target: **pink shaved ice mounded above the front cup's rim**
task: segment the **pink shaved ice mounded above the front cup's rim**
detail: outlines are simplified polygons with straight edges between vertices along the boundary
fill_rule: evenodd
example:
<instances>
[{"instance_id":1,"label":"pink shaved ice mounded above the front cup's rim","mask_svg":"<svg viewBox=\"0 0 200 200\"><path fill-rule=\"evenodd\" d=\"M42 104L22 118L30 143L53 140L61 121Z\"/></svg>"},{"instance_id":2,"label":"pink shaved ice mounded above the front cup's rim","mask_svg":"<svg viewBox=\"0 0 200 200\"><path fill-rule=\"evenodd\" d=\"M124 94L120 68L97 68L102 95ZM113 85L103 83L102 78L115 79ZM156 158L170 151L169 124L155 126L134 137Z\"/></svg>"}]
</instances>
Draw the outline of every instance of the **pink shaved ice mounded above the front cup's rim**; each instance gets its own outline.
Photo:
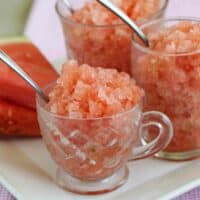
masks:
<instances>
[{"instance_id":1,"label":"pink shaved ice mounded above the front cup's rim","mask_svg":"<svg viewBox=\"0 0 200 200\"><path fill-rule=\"evenodd\" d=\"M115 69L93 68L71 60L49 94L51 112L70 118L97 118L133 108L144 95L135 80Z\"/></svg>"}]
</instances>

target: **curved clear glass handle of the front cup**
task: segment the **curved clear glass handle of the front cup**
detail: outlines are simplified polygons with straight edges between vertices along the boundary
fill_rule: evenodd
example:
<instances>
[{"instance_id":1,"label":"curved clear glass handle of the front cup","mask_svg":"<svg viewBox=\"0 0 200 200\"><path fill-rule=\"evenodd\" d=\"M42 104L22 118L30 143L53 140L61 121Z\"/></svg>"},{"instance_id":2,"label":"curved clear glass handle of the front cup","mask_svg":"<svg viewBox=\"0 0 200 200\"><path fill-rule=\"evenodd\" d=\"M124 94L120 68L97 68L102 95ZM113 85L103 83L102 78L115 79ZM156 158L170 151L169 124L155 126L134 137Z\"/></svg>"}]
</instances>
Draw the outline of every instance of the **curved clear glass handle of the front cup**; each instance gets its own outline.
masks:
<instances>
[{"instance_id":1,"label":"curved clear glass handle of the front cup","mask_svg":"<svg viewBox=\"0 0 200 200\"><path fill-rule=\"evenodd\" d=\"M158 134L153 140L151 139L152 133L149 133L150 127L158 129ZM158 153L167 147L172 137L173 125L164 113L158 111L143 113L139 129L139 138L142 146L132 149L129 161L143 159Z\"/></svg>"}]
</instances>

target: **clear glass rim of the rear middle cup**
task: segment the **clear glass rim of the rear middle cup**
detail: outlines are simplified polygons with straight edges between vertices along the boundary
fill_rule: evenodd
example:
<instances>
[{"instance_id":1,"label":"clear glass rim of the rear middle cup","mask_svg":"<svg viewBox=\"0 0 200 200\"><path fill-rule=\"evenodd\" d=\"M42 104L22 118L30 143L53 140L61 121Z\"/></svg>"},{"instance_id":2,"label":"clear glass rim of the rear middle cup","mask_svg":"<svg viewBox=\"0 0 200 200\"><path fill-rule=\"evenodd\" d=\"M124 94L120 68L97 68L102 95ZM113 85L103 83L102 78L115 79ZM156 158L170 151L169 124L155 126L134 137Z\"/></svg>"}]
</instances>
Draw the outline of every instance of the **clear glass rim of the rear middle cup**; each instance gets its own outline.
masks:
<instances>
[{"instance_id":1,"label":"clear glass rim of the rear middle cup","mask_svg":"<svg viewBox=\"0 0 200 200\"><path fill-rule=\"evenodd\" d=\"M111 25L106 25L106 24L105 24L105 25L95 25L95 24L92 24L92 25L91 25L91 24L82 24L82 23L78 23L78 22L72 20L72 19L69 18L69 17L63 16L63 15L60 13L60 11L59 11L59 5L58 5L58 4L59 4L61 1L63 1L63 0L57 0L57 2L56 2L56 4L55 4L55 10L56 10L57 14L59 15L59 17L60 17L63 21L68 22L68 23L70 23L70 24L75 24L76 26L80 26L80 27L99 28L99 29L100 29L100 28L117 28L117 27L121 27L121 26L127 26L126 24L123 24L123 23L121 23L121 24L111 24ZM164 13L165 10L166 10L167 7L168 7L169 0L163 0L163 1L164 1L164 3L163 3L163 5L162 5L162 7L161 7L155 14L151 15L151 16L148 17L148 18L144 18L144 19L150 21L150 20L153 20L153 19L157 18L157 17L160 16L162 13ZM66 9L67 9L67 7L66 7Z\"/></svg>"}]
</instances>

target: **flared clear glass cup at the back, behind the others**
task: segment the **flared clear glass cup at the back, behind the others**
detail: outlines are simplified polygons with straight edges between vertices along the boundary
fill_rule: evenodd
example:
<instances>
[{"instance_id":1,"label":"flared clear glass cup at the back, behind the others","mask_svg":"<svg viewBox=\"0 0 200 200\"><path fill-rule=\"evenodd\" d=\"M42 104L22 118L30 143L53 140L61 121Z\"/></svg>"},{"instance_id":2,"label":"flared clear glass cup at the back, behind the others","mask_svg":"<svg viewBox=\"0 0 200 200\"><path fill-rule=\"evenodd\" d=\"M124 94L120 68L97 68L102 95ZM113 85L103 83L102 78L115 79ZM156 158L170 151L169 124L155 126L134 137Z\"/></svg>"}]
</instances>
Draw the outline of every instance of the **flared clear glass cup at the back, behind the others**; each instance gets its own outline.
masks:
<instances>
[{"instance_id":1,"label":"flared clear glass cup at the back, behind the others","mask_svg":"<svg viewBox=\"0 0 200 200\"><path fill-rule=\"evenodd\" d=\"M158 0L160 7L147 19L138 18L137 23L157 19L164 15L168 0ZM73 1L71 1L73 3ZM87 0L80 0L83 6ZM74 6L75 9L78 9ZM67 55L80 64L116 68L130 73L132 31L125 24L87 25L70 18L70 11L64 0L58 0L57 13L61 19Z\"/></svg>"}]
</instances>

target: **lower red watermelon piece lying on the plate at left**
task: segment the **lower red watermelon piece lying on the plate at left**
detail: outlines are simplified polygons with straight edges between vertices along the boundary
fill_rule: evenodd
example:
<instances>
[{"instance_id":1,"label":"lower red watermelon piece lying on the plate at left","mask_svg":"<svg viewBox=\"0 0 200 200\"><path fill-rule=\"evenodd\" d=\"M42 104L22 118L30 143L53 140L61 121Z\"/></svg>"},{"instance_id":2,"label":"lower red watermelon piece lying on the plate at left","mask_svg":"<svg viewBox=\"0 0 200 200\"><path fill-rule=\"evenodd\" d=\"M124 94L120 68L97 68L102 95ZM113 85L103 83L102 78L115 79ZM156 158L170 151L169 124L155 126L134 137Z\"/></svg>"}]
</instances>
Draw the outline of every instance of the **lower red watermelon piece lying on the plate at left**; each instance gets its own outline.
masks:
<instances>
[{"instance_id":1,"label":"lower red watermelon piece lying on the plate at left","mask_svg":"<svg viewBox=\"0 0 200 200\"><path fill-rule=\"evenodd\" d=\"M0 99L0 136L40 136L36 111Z\"/></svg>"}]
</instances>

